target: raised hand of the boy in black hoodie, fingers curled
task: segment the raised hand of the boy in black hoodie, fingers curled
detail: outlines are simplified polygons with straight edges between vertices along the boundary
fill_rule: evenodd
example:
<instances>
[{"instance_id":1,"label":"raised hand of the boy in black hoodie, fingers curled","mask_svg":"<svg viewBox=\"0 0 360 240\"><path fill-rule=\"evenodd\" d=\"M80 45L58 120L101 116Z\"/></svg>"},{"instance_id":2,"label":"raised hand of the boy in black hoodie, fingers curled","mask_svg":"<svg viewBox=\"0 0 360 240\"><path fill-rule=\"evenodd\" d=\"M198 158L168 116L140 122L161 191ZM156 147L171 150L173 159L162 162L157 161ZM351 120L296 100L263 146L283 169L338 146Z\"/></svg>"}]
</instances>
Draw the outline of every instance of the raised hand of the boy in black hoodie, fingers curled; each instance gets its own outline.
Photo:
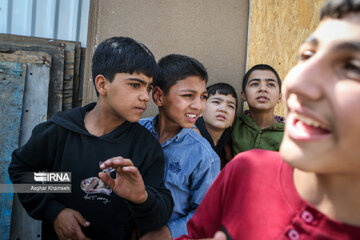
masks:
<instances>
[{"instance_id":1,"label":"raised hand of the boy in black hoodie, fingers curled","mask_svg":"<svg viewBox=\"0 0 360 240\"><path fill-rule=\"evenodd\" d=\"M142 204L148 198L143 178L130 159L114 157L100 165L101 169L112 167L116 171L113 179L108 173L99 172L99 178L107 184L118 196L135 204Z\"/></svg>"}]
</instances>

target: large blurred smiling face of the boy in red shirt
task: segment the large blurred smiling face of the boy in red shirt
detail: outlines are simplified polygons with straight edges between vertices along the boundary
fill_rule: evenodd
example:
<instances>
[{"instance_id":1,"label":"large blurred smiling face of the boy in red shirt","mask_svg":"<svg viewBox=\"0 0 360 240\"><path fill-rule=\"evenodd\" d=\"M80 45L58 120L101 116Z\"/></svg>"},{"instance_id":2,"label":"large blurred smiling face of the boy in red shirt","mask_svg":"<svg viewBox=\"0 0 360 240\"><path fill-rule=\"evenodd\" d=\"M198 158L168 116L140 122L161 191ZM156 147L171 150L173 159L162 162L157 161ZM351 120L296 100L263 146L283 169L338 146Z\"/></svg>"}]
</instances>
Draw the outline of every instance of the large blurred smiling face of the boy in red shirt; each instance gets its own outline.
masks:
<instances>
[{"instance_id":1,"label":"large blurred smiling face of the boy in red shirt","mask_svg":"<svg viewBox=\"0 0 360 240\"><path fill-rule=\"evenodd\" d=\"M283 85L281 156L317 173L360 171L360 15L324 19Z\"/></svg>"}]
</instances>

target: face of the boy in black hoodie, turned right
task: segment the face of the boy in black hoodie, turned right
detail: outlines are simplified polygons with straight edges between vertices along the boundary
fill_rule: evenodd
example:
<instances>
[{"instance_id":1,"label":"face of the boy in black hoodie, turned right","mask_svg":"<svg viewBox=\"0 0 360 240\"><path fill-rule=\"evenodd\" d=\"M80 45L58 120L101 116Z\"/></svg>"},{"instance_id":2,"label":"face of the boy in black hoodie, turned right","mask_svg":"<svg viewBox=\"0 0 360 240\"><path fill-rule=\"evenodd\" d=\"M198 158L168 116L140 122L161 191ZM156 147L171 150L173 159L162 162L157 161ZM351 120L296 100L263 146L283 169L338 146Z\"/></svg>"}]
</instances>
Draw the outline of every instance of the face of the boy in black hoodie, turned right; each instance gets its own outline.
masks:
<instances>
[{"instance_id":1,"label":"face of the boy in black hoodie, turned right","mask_svg":"<svg viewBox=\"0 0 360 240\"><path fill-rule=\"evenodd\" d=\"M97 90L109 117L115 117L122 122L139 121L149 103L152 78L137 73L117 73L112 82L102 75L96 78L95 81L103 82Z\"/></svg>"}]
</instances>

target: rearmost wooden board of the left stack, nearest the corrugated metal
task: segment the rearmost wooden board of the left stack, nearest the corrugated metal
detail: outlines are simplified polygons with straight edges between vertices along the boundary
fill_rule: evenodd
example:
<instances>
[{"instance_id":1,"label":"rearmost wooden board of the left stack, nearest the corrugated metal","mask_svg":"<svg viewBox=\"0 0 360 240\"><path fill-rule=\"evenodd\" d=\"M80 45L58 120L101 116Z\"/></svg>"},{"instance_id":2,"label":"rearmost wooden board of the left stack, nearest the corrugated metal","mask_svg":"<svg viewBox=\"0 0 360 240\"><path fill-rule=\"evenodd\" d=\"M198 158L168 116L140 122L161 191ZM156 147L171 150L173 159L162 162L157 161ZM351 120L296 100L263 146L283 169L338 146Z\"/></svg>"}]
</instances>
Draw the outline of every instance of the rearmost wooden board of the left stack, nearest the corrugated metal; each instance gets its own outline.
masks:
<instances>
[{"instance_id":1,"label":"rearmost wooden board of the left stack, nearest the corrugated metal","mask_svg":"<svg viewBox=\"0 0 360 240\"><path fill-rule=\"evenodd\" d=\"M62 110L71 109L73 106L74 95L74 81L78 82L75 78L75 74L78 73L78 63L76 59L79 59L79 54L76 49L81 47L80 42L57 40L51 38L38 38L29 36L20 36L12 34L0 34L0 40L22 42L27 44L46 44L52 46L61 46L65 50L64 59L64 82L63 82L63 98L62 98ZM78 49L79 50L79 49Z\"/></svg>"}]
</instances>

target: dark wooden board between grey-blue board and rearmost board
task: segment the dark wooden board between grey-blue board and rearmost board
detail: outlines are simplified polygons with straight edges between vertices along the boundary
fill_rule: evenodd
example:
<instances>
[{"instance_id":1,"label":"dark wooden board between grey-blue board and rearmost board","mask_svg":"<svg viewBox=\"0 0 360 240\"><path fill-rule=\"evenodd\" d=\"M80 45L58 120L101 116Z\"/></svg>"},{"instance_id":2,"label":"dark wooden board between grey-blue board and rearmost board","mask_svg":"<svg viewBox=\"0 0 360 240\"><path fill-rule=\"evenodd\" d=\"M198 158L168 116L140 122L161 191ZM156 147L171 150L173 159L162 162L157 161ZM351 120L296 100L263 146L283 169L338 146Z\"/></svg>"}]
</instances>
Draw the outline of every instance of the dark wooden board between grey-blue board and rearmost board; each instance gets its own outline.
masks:
<instances>
[{"instance_id":1,"label":"dark wooden board between grey-blue board and rearmost board","mask_svg":"<svg viewBox=\"0 0 360 240\"><path fill-rule=\"evenodd\" d=\"M42 44L24 44L0 40L0 52L11 53L15 51L43 51L52 57L51 76L48 100L48 118L62 110L63 75L64 75L64 46L51 46Z\"/></svg>"}]
</instances>

